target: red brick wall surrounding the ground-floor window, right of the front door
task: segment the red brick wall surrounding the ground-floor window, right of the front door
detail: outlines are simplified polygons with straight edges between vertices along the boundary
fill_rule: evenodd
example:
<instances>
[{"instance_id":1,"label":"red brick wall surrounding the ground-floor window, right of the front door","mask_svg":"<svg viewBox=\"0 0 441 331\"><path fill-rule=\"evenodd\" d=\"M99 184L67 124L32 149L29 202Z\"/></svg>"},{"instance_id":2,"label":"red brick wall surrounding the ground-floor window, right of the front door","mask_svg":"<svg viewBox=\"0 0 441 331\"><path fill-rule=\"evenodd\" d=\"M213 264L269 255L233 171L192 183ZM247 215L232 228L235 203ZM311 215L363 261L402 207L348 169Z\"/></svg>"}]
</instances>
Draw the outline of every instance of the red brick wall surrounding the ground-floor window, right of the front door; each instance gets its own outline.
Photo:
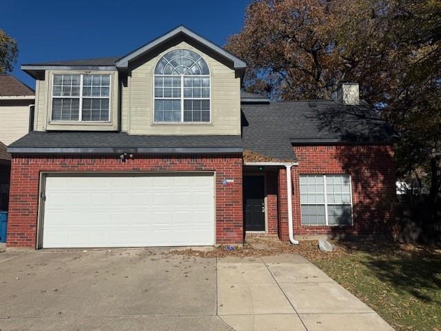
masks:
<instances>
[{"instance_id":1,"label":"red brick wall surrounding the ground-floor window, right of the front door","mask_svg":"<svg viewBox=\"0 0 441 331\"><path fill-rule=\"evenodd\" d=\"M298 166L292 168L294 235L308 237L389 236L391 199L395 194L392 146L295 146ZM286 180L280 170L279 185ZM303 226L300 221L300 174L350 174L353 202L351 226ZM286 189L286 184L284 186ZM279 190L283 191L283 188ZM283 194L283 192L282 192ZM280 206L283 215L286 206ZM289 240L287 218L279 217L280 238ZM285 225L286 222L286 225Z\"/></svg>"}]
</instances>

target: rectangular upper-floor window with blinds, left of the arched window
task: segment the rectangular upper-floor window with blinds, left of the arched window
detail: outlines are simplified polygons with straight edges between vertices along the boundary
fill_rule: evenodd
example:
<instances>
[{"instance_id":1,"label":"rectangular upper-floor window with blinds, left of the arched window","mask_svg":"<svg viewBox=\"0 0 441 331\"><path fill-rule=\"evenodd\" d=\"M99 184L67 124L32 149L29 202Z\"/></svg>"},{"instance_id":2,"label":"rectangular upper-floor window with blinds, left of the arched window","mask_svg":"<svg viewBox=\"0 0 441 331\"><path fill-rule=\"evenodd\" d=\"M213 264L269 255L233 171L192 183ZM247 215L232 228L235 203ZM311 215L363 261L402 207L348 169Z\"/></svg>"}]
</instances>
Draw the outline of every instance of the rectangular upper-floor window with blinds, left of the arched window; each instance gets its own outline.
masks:
<instances>
[{"instance_id":1,"label":"rectangular upper-floor window with blinds, left of the arched window","mask_svg":"<svg viewBox=\"0 0 441 331\"><path fill-rule=\"evenodd\" d=\"M52 121L110 121L110 74L54 74Z\"/></svg>"}]
</instances>

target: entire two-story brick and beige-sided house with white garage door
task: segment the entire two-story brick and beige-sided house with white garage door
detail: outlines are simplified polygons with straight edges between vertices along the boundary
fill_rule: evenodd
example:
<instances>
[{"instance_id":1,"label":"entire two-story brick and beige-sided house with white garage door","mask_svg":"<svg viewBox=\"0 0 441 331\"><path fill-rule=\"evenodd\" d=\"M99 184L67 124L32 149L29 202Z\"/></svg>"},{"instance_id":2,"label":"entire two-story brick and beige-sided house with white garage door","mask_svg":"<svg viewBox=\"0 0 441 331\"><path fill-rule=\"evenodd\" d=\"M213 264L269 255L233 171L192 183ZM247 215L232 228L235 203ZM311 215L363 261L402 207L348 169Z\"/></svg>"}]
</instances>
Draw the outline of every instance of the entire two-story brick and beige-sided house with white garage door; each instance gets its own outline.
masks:
<instances>
[{"instance_id":1,"label":"entire two-story brick and beige-sided house with white garage door","mask_svg":"<svg viewBox=\"0 0 441 331\"><path fill-rule=\"evenodd\" d=\"M180 26L123 57L34 63L12 154L8 247L387 235L393 135L336 101L241 93L246 63Z\"/></svg>"}]
</instances>

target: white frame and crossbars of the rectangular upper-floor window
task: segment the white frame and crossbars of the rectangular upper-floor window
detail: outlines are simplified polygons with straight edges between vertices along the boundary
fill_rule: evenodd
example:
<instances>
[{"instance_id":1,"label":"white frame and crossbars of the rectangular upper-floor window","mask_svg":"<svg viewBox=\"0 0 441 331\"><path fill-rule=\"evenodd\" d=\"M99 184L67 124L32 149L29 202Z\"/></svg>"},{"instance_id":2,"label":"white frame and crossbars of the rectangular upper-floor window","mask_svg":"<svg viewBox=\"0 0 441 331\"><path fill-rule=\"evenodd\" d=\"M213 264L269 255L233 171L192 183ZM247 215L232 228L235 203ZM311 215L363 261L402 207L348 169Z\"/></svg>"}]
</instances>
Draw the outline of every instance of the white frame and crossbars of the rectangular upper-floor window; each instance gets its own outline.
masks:
<instances>
[{"instance_id":1,"label":"white frame and crossbars of the rectangular upper-floor window","mask_svg":"<svg viewBox=\"0 0 441 331\"><path fill-rule=\"evenodd\" d=\"M75 74L80 75L80 94L78 97L63 97L59 95L54 95L54 77L55 75L68 75L71 74L72 76ZM109 117L105 121L83 121L83 98L85 99L105 99L106 97L83 97L83 79L85 75L102 75L102 76L109 76ZM50 123L110 123L111 122L111 114L112 114L112 74L107 73L80 73L80 72L55 72L52 74L52 84L51 84L51 92L50 92ZM79 114L78 114L78 121L75 120L54 120L52 119L52 112L53 112L53 99L80 99L79 100Z\"/></svg>"}]
</instances>

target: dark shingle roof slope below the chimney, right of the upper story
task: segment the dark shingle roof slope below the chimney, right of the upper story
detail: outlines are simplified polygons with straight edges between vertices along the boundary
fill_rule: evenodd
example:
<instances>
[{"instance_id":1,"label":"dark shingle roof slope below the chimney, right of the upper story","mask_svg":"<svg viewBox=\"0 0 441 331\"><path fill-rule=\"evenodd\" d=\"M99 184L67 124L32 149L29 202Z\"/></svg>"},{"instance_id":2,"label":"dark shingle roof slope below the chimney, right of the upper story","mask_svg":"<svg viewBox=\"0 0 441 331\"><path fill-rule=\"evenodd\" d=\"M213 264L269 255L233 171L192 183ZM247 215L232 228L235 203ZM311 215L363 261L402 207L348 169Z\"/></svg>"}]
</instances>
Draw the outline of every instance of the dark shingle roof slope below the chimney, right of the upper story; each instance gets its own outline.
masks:
<instances>
[{"instance_id":1,"label":"dark shingle roof slope below the chimney, right of the upper story","mask_svg":"<svg viewBox=\"0 0 441 331\"><path fill-rule=\"evenodd\" d=\"M243 104L243 148L265 157L295 161L293 144L391 143L389 124L367 103L333 100Z\"/></svg>"}]
</instances>

